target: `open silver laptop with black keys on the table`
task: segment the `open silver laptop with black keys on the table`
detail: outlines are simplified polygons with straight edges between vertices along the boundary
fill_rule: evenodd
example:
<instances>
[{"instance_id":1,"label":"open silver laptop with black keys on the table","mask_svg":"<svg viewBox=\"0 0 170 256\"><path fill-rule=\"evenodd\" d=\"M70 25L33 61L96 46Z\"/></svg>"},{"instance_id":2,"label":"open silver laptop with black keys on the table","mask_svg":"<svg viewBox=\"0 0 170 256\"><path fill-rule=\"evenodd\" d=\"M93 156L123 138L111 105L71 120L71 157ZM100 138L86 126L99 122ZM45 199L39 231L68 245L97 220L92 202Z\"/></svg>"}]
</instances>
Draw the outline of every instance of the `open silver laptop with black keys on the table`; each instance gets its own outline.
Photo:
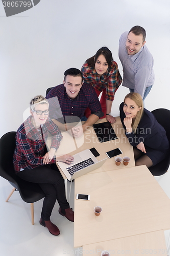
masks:
<instances>
[{"instance_id":1,"label":"open silver laptop with black keys on the table","mask_svg":"<svg viewBox=\"0 0 170 256\"><path fill-rule=\"evenodd\" d=\"M64 162L57 162L67 179L74 180L84 174L100 168L108 158L98 161L90 150L84 150L73 156L74 162L70 165Z\"/></svg>"}]
</instances>

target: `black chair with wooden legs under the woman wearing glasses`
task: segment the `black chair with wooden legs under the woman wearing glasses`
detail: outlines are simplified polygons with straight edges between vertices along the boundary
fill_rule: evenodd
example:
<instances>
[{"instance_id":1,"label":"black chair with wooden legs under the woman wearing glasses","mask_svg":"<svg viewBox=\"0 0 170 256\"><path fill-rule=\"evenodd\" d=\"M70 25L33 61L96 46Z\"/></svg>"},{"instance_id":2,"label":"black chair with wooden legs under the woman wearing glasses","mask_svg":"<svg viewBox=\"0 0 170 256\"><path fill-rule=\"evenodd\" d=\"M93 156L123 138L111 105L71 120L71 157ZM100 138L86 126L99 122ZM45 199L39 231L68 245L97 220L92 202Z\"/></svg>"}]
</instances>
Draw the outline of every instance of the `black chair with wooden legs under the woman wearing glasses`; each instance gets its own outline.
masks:
<instances>
[{"instance_id":1,"label":"black chair with wooden legs under the woman wearing glasses","mask_svg":"<svg viewBox=\"0 0 170 256\"><path fill-rule=\"evenodd\" d=\"M15 135L16 132L9 132L3 135L3 137L0 139L0 176L8 180L14 187L6 202L8 202L13 192L18 190L22 200L26 203L31 203L31 217L32 224L34 225L33 203L42 199L45 194L37 183L22 180L15 175L15 170L13 167Z\"/></svg>"}]
</instances>

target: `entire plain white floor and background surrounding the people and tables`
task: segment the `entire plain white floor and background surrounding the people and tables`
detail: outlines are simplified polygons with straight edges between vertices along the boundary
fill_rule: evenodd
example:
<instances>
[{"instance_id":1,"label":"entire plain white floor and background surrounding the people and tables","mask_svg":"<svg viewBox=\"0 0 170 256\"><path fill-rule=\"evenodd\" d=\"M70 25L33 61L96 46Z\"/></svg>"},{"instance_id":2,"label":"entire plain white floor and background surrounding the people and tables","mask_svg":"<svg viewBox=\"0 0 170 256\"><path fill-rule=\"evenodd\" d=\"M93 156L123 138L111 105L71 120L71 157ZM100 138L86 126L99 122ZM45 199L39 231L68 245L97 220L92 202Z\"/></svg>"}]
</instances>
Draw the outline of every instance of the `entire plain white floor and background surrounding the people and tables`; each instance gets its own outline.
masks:
<instances>
[{"instance_id":1,"label":"entire plain white floor and background surrounding the people and tables","mask_svg":"<svg viewBox=\"0 0 170 256\"><path fill-rule=\"evenodd\" d=\"M23 13L28 17L21 19L20 14L6 18L1 4L0 66L4 88L1 110L5 108L1 113L4 120L1 135L16 131L22 111L28 108L27 103L33 96L43 95L48 87L60 84L67 68L81 68L103 45L111 49L123 74L118 59L118 39L135 25L147 30L147 47L154 56L156 79L145 100L145 108L169 109L169 9L168 0L42 0ZM122 86L117 90L112 108L114 116L119 114L119 104L128 92ZM15 111L12 111L14 99ZM170 169L155 179L170 198ZM74 183L72 185L70 206L74 208ZM74 223L59 215L58 204L51 217L61 231L55 237L39 224L42 200L34 204L33 226L30 204L21 200L18 191L5 202L11 189L11 184L0 177L0 256L77 256ZM166 243L168 236L169 230L165 231Z\"/></svg>"}]
</instances>

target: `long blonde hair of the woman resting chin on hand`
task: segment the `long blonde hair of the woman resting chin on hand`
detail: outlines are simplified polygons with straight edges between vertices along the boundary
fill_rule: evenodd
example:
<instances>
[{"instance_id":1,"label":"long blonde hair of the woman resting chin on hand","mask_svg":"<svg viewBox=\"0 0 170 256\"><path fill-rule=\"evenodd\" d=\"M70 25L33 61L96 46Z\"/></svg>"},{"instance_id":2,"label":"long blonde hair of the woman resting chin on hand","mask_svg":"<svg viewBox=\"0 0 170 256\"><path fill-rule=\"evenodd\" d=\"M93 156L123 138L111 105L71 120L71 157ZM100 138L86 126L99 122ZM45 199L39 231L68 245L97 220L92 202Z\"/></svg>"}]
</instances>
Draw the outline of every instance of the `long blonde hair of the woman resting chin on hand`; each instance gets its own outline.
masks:
<instances>
[{"instance_id":1,"label":"long blonde hair of the woman resting chin on hand","mask_svg":"<svg viewBox=\"0 0 170 256\"><path fill-rule=\"evenodd\" d=\"M124 103L125 103L125 100L126 98L130 98L132 99L137 105L139 108L141 108L138 112L137 112L137 115L136 117L133 119L132 121L132 131L134 133L136 133L136 130L137 130L137 126L141 120L141 117L143 115L143 100L142 100L142 97L140 96L139 93L128 93L126 96L125 96L125 99L124 99Z\"/></svg>"}]
</instances>

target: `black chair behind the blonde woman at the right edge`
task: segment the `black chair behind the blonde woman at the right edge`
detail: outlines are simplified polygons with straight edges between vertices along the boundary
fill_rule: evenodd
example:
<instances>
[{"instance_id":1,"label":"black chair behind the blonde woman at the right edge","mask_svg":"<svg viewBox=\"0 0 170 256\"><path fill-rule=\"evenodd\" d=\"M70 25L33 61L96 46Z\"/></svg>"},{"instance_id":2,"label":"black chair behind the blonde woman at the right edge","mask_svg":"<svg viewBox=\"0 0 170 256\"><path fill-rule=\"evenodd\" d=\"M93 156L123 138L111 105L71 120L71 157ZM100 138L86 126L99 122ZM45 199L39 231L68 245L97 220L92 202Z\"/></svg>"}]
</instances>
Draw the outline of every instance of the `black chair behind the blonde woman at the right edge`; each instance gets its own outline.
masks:
<instances>
[{"instance_id":1,"label":"black chair behind the blonde woman at the right edge","mask_svg":"<svg viewBox=\"0 0 170 256\"><path fill-rule=\"evenodd\" d=\"M160 123L164 127L166 131L166 136L170 145L170 122L169 122L170 110L157 109L157 110L153 110L152 113L156 117L156 120L158 121L158 123ZM170 164L170 151L169 151L169 155L163 161L161 161L160 163L154 166L151 166L149 170L154 176L160 176L167 172L169 164Z\"/></svg>"}]
</instances>

